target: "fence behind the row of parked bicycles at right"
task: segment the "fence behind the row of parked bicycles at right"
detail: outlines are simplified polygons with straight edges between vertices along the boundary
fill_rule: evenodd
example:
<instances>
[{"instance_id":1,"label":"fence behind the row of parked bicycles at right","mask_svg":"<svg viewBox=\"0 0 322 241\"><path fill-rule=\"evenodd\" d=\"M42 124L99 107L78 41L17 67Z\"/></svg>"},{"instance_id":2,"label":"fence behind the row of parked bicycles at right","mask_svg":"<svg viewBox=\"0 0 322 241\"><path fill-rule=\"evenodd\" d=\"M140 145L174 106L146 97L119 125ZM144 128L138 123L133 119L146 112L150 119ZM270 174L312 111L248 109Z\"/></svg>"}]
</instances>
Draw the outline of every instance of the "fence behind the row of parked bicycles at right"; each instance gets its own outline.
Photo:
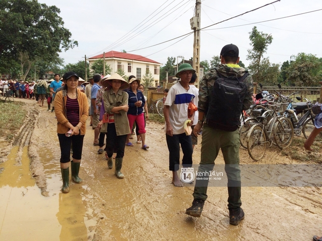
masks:
<instances>
[{"instance_id":1,"label":"fence behind the row of parked bicycles at right","mask_svg":"<svg viewBox=\"0 0 322 241\"><path fill-rule=\"evenodd\" d=\"M320 81L321 87L287 87L282 86L281 89L278 86L263 86L263 88L259 87L256 82L254 82L254 94L259 93L261 90L267 90L271 94L275 94L277 92L282 92L283 95L290 95L294 92L300 92L295 96L300 96L302 100L307 98L313 102L322 100L322 81ZM297 101L295 99L295 101Z\"/></svg>"}]
</instances>

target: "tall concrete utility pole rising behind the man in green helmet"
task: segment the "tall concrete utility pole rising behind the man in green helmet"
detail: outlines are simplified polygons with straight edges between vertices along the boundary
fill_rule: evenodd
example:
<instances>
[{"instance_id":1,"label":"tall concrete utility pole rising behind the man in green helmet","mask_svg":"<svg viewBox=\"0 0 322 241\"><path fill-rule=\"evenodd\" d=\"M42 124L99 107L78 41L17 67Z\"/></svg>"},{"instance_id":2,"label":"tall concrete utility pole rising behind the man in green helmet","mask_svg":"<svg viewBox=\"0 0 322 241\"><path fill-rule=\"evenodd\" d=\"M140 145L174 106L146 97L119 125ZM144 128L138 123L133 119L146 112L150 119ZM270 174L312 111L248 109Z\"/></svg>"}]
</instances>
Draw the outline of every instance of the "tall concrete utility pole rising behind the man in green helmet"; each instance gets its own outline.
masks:
<instances>
[{"instance_id":1,"label":"tall concrete utility pole rising behind the man in green helmet","mask_svg":"<svg viewBox=\"0 0 322 241\"><path fill-rule=\"evenodd\" d=\"M193 41L193 60L192 68L196 70L197 80L196 85L199 87L200 77L200 22L201 22L201 0L196 0L196 12L195 16L190 19L191 29L194 30Z\"/></svg>"}]
</instances>

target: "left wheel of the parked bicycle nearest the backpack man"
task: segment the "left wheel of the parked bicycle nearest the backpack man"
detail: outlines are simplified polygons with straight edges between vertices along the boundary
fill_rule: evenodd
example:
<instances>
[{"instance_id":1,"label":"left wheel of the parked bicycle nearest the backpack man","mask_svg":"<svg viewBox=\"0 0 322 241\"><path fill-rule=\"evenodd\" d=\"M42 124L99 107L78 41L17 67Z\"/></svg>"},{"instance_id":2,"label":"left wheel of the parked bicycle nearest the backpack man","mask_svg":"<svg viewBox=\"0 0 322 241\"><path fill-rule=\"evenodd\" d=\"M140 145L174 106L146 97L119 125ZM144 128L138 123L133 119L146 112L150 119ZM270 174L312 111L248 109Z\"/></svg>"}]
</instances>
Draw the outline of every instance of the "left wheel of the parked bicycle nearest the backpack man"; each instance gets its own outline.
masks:
<instances>
[{"instance_id":1,"label":"left wheel of the parked bicycle nearest the backpack man","mask_svg":"<svg viewBox=\"0 0 322 241\"><path fill-rule=\"evenodd\" d=\"M267 143L267 137L262 125L253 125L247 134L247 151L251 159L254 161L262 160L266 152Z\"/></svg>"}]
</instances>

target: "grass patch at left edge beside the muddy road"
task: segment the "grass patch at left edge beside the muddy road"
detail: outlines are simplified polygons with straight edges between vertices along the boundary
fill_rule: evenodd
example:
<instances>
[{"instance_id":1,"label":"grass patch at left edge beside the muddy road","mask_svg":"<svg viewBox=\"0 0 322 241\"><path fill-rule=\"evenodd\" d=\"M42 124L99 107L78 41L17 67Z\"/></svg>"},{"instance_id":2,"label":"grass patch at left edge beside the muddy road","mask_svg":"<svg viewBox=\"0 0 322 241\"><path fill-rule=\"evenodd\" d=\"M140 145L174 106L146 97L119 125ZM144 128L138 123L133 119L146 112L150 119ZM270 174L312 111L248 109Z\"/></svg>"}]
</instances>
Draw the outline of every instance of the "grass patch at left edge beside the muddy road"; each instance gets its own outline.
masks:
<instances>
[{"instance_id":1,"label":"grass patch at left edge beside the muddy road","mask_svg":"<svg viewBox=\"0 0 322 241\"><path fill-rule=\"evenodd\" d=\"M26 117L27 110L24 102L15 101L0 102L0 136L10 141L16 131L21 127L22 121Z\"/></svg>"}]
</instances>

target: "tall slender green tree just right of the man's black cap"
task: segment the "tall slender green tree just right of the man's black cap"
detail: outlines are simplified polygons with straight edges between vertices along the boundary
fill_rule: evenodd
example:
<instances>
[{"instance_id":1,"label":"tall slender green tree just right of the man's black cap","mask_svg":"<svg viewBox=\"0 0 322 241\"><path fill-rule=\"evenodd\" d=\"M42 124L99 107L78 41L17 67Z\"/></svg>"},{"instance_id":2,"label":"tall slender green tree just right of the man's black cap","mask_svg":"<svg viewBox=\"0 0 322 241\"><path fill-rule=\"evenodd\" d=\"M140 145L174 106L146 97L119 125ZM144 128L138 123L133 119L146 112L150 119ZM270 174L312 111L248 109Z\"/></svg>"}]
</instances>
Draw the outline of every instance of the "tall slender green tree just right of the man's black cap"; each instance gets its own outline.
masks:
<instances>
[{"instance_id":1,"label":"tall slender green tree just right of the man's black cap","mask_svg":"<svg viewBox=\"0 0 322 241\"><path fill-rule=\"evenodd\" d=\"M252 74L253 80L259 83L261 82L264 85L277 83L279 65L270 64L269 58L264 58L264 54L268 49L268 45L272 42L273 37L270 34L259 32L256 26L249 34L252 49L248 49L247 60L250 60L248 70Z\"/></svg>"}]
</instances>

